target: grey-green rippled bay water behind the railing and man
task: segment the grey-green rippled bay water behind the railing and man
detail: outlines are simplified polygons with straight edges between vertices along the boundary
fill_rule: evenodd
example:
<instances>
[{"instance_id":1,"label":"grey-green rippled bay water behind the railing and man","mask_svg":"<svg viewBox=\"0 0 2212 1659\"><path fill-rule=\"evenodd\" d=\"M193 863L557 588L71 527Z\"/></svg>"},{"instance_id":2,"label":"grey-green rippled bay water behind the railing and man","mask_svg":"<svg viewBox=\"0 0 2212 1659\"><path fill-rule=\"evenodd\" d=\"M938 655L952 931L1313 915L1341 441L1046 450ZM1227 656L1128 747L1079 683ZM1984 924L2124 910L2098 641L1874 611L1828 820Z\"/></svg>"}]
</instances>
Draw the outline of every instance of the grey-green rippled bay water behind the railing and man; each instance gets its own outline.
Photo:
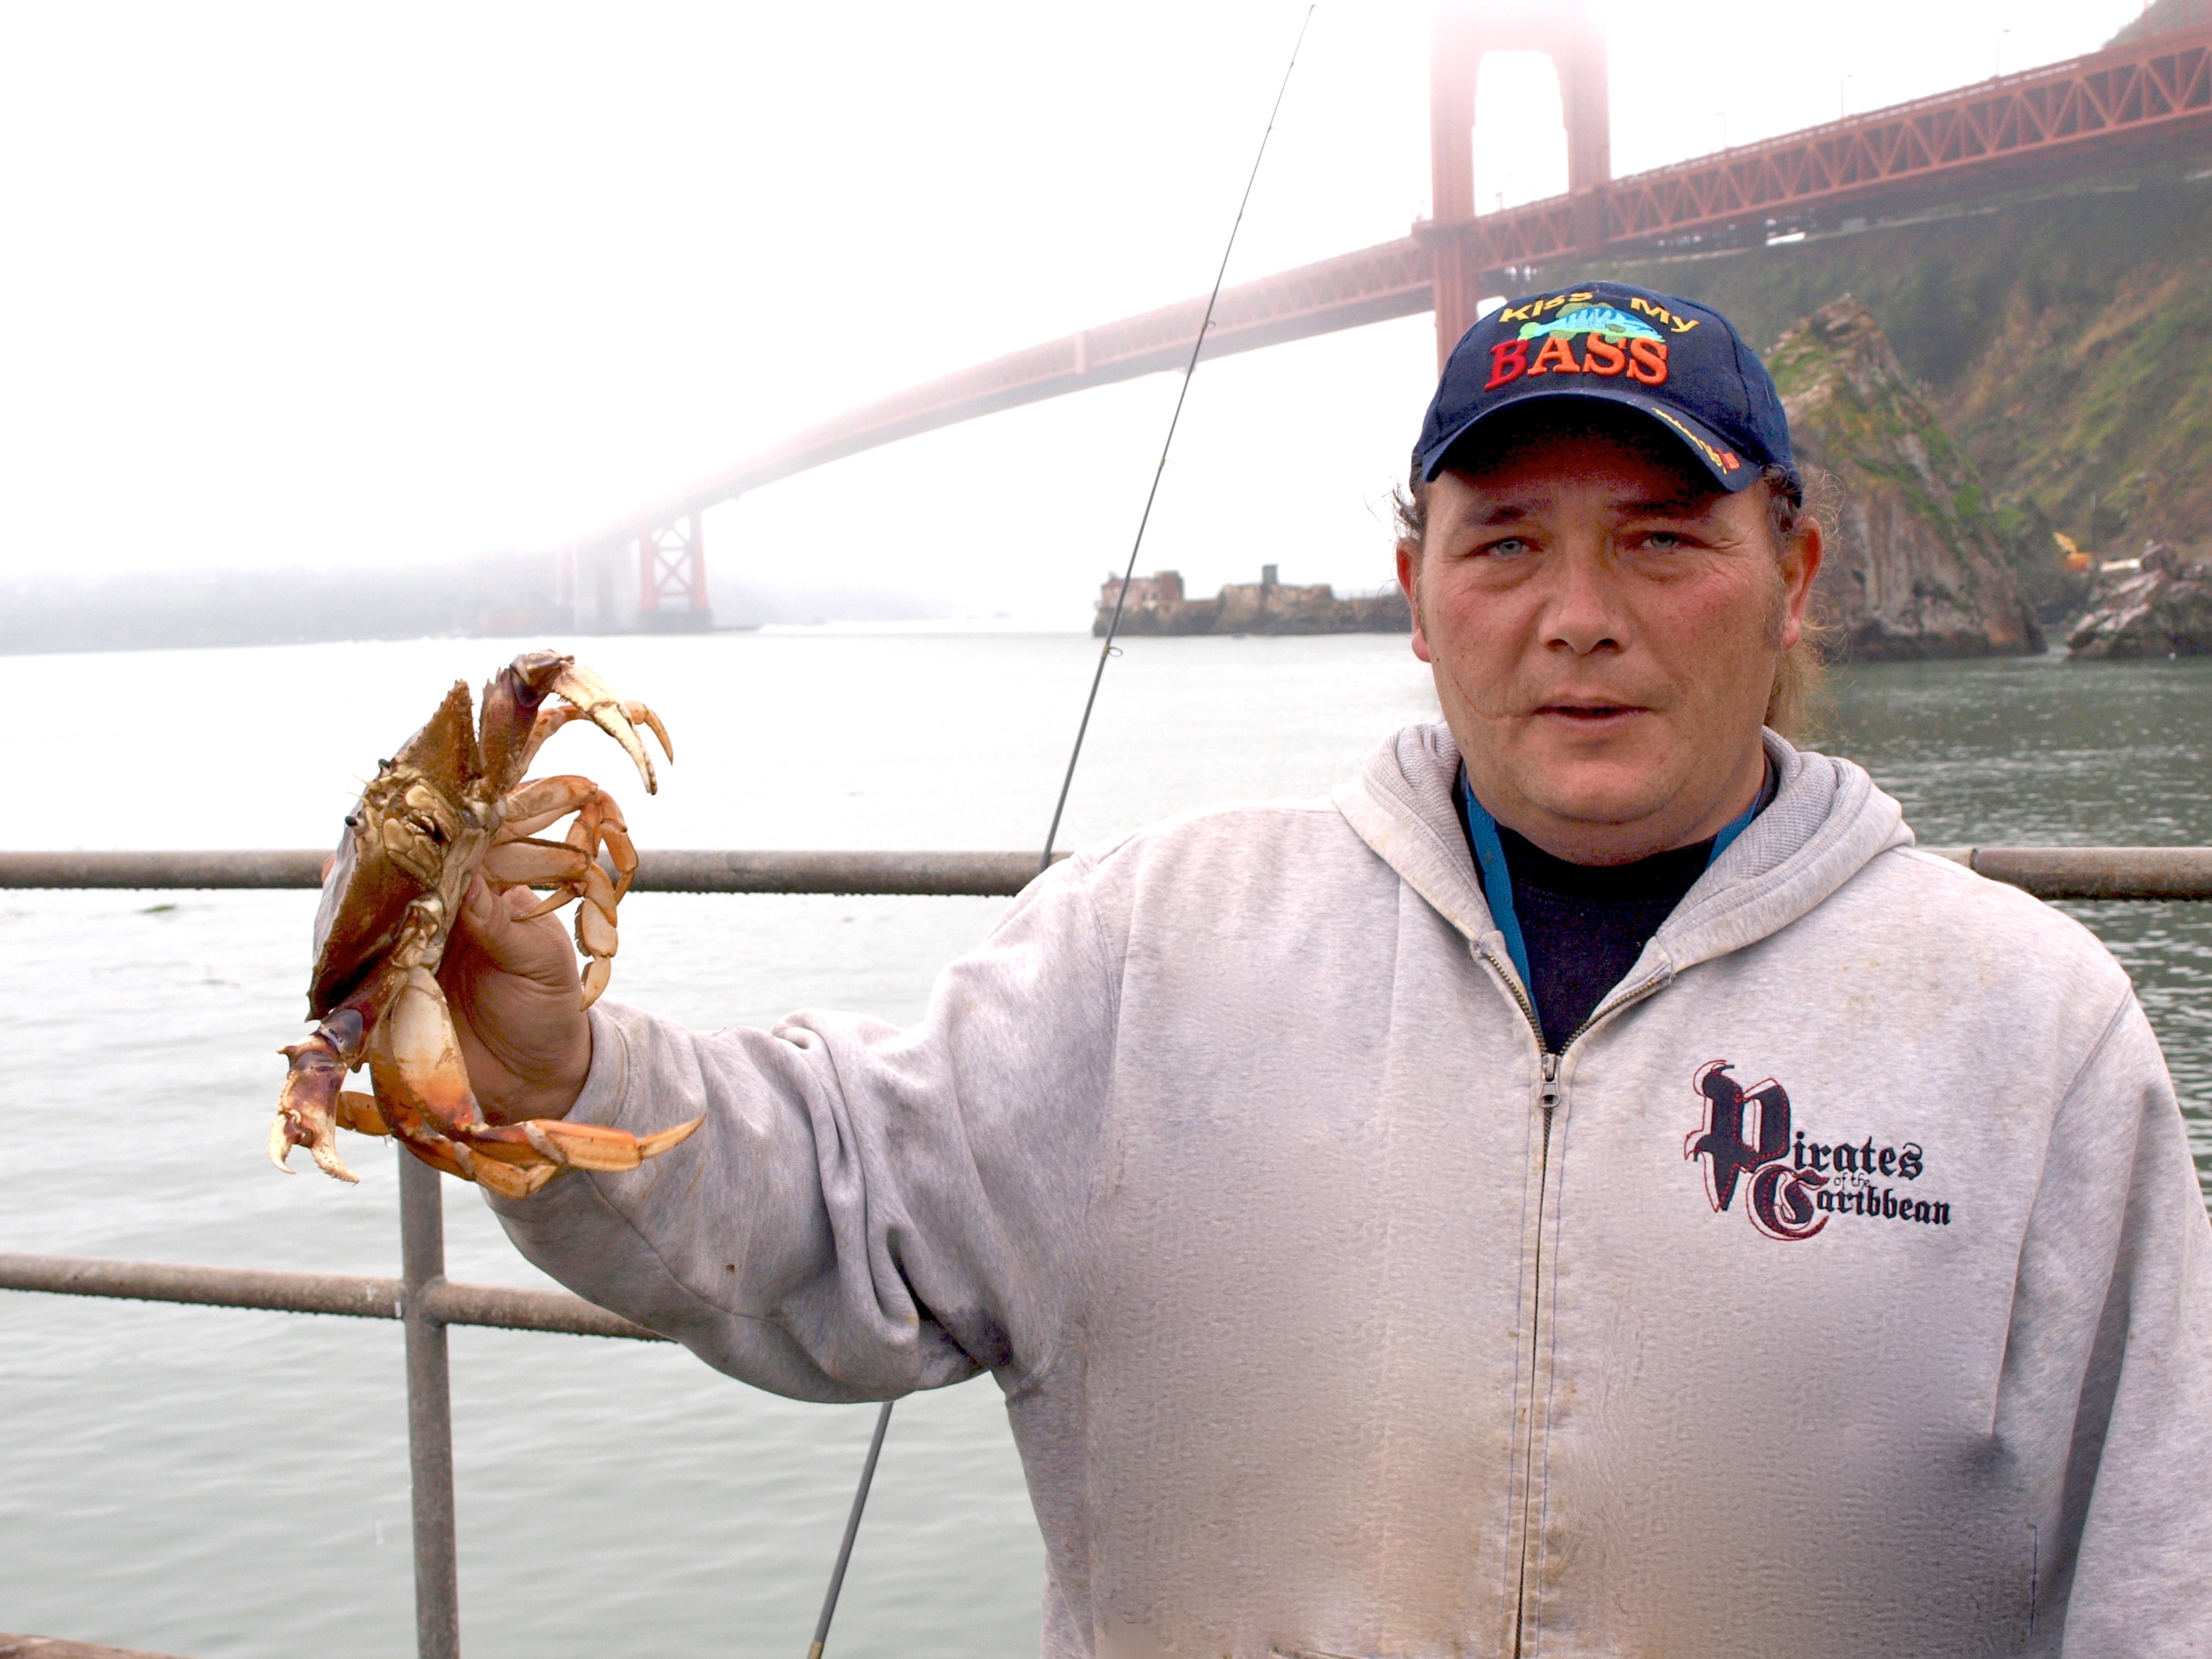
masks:
<instances>
[{"instance_id":1,"label":"grey-green rippled bay water behind the railing and man","mask_svg":"<svg viewBox=\"0 0 2212 1659\"><path fill-rule=\"evenodd\" d=\"M668 719L646 799L564 732L644 847L1033 847L1097 646L1079 635L582 639ZM330 845L372 770L513 641L15 657L11 847ZM1133 639L1064 845L1329 790L1433 714L1398 637ZM2212 843L2212 661L1898 664L1827 745L1927 843ZM312 894L0 894L0 1250L396 1274L394 1152L345 1188L261 1155L301 1033ZM1002 900L633 896L617 1000L695 1026L914 1018ZM2070 905L2130 969L2212 1172L2212 905ZM449 1274L544 1283L460 1183ZM681 1349L456 1329L471 1655L787 1655L872 1407L779 1400ZM1042 1548L989 1378L898 1407L834 1655L1022 1655ZM414 1650L389 1323L0 1292L0 1628L192 1659Z\"/></svg>"}]
</instances>

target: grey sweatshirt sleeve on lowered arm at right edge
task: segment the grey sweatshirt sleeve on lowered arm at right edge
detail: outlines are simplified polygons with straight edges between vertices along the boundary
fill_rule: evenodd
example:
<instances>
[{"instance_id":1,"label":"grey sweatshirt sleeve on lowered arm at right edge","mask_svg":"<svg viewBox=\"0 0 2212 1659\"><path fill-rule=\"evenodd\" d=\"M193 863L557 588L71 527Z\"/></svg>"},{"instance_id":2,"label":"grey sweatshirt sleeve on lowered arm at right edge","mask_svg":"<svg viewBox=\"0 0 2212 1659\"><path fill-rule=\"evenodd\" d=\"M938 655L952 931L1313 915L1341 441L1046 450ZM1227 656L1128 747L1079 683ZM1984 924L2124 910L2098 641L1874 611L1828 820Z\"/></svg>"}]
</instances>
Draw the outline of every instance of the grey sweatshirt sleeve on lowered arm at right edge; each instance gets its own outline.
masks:
<instances>
[{"instance_id":1,"label":"grey sweatshirt sleeve on lowered arm at right edge","mask_svg":"<svg viewBox=\"0 0 2212 1659\"><path fill-rule=\"evenodd\" d=\"M2028 1232L2006 1369L2075 1360L2044 1374L2064 1383L2044 1407L2073 1407L2057 1509L2075 1548L2044 1557L2059 1650L2212 1655L2212 1228L2132 995L2059 1108Z\"/></svg>"}]
</instances>

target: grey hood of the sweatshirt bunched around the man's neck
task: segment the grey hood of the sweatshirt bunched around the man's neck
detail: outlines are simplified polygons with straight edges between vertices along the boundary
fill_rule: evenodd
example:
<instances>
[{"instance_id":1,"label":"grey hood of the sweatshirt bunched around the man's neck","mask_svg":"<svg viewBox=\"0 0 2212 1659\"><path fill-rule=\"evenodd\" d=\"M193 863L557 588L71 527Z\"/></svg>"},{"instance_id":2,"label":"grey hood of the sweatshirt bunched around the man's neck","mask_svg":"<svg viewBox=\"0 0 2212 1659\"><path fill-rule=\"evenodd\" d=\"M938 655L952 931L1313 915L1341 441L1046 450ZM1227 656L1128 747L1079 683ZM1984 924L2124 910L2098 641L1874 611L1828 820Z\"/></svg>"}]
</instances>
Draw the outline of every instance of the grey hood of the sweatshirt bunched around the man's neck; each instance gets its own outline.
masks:
<instances>
[{"instance_id":1,"label":"grey hood of the sweatshirt bunched around the man's neck","mask_svg":"<svg viewBox=\"0 0 2212 1659\"><path fill-rule=\"evenodd\" d=\"M1865 768L1761 734L1774 801L1714 858L1652 938L1672 971L1739 951L1805 916L1876 856L1913 845L1905 812ZM1374 854L1469 940L1498 929L1458 805L1460 748L1442 723L1385 739L1336 790L1336 810Z\"/></svg>"}]
</instances>

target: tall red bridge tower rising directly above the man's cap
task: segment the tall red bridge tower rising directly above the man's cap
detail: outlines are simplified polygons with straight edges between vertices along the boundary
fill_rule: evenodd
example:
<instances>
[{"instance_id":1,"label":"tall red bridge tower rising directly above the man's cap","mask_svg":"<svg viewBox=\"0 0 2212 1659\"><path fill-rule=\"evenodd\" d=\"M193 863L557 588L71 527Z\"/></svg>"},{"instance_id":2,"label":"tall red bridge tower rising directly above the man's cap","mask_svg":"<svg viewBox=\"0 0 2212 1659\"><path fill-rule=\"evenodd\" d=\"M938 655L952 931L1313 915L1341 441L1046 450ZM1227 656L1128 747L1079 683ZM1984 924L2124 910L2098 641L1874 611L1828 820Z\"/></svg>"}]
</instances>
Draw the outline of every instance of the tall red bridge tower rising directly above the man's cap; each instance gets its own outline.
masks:
<instances>
[{"instance_id":1,"label":"tall red bridge tower rising directly above the man's cap","mask_svg":"<svg viewBox=\"0 0 2212 1659\"><path fill-rule=\"evenodd\" d=\"M1493 51L1540 51L1559 75L1566 117L1566 195L1575 250L1595 257L1606 246L1606 186L1613 181L1613 117L1606 88L1606 35L1588 0L1531 7L1517 0L1444 0L1429 46L1429 197L1431 226L1447 232L1475 217L1475 77ZM1475 321L1480 270L1467 268L1464 239L1433 234L1436 361Z\"/></svg>"}]
</instances>

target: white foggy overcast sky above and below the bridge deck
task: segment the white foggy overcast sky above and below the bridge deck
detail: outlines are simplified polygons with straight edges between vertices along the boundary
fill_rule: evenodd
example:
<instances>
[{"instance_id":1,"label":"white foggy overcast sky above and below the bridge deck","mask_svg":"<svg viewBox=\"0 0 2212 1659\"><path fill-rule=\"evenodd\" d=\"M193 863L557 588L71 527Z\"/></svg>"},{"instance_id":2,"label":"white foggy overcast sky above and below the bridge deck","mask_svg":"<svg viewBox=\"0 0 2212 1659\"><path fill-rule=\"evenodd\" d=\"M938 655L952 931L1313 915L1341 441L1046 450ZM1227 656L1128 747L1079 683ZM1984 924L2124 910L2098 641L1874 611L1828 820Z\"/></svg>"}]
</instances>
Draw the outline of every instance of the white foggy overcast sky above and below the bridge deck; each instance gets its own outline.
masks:
<instances>
[{"instance_id":1,"label":"white foggy overcast sky above and below the bridge deck","mask_svg":"<svg viewBox=\"0 0 2212 1659\"><path fill-rule=\"evenodd\" d=\"M2141 0L1608 7L1615 173L2088 51ZM1212 276L1298 0L0 4L0 575L553 546ZM1230 281L1427 212L1427 4L1323 4ZM1484 204L1564 188L1542 60ZM1144 566L1387 575L1427 316L1199 372ZM717 511L719 568L1082 622L1152 376ZM398 580L405 580L403 575Z\"/></svg>"}]
</instances>

